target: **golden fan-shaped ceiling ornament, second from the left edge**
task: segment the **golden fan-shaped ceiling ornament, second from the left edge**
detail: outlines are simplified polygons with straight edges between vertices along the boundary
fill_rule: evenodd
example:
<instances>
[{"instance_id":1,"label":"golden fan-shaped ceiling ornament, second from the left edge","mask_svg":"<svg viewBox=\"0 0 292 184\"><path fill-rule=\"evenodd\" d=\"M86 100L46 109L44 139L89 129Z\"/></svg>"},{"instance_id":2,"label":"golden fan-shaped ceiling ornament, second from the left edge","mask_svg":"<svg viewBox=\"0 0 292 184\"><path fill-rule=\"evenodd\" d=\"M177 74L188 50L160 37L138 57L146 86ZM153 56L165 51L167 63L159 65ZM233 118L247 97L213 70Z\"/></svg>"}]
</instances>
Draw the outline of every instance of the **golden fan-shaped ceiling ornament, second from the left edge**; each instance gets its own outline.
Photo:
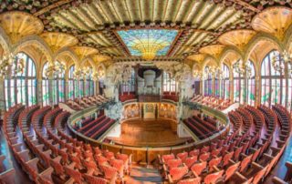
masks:
<instances>
[{"instance_id":1,"label":"golden fan-shaped ceiling ornament, second from the left edge","mask_svg":"<svg viewBox=\"0 0 292 184\"><path fill-rule=\"evenodd\" d=\"M75 36L64 33L47 32L40 36L47 42L47 45L50 46L54 53L62 47L78 44L78 39Z\"/></svg>"}]
</instances>

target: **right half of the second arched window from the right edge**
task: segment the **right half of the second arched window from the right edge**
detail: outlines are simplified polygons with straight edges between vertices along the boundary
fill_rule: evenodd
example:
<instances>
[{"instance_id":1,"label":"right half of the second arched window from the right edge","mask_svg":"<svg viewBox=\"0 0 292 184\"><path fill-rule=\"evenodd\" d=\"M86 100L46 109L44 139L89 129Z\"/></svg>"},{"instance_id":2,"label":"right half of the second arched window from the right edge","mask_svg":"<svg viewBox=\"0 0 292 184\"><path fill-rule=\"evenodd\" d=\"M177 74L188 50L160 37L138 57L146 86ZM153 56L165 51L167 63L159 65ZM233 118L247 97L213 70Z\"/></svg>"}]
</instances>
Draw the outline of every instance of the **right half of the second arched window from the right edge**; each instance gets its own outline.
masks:
<instances>
[{"instance_id":1,"label":"right half of the second arched window from the right edge","mask_svg":"<svg viewBox=\"0 0 292 184\"><path fill-rule=\"evenodd\" d=\"M251 69L251 75L247 79L247 103L255 106L255 65L252 61L248 61L247 67Z\"/></svg>"}]
</instances>

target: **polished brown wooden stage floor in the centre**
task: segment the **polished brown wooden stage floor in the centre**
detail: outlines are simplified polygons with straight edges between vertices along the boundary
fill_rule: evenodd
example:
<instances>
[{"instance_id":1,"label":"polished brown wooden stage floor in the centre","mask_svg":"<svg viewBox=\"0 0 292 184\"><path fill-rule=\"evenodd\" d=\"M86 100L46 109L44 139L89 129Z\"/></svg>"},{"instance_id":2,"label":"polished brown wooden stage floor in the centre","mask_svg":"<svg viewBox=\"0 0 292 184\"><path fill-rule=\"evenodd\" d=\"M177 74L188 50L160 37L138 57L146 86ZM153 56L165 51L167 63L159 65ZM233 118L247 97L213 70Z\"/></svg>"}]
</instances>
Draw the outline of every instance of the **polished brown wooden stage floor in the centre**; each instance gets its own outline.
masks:
<instances>
[{"instance_id":1,"label":"polished brown wooden stage floor in the centre","mask_svg":"<svg viewBox=\"0 0 292 184\"><path fill-rule=\"evenodd\" d=\"M133 119L121 124L120 138L115 144L131 147L169 147L182 145L190 138L179 138L176 122L168 119Z\"/></svg>"}]
</instances>

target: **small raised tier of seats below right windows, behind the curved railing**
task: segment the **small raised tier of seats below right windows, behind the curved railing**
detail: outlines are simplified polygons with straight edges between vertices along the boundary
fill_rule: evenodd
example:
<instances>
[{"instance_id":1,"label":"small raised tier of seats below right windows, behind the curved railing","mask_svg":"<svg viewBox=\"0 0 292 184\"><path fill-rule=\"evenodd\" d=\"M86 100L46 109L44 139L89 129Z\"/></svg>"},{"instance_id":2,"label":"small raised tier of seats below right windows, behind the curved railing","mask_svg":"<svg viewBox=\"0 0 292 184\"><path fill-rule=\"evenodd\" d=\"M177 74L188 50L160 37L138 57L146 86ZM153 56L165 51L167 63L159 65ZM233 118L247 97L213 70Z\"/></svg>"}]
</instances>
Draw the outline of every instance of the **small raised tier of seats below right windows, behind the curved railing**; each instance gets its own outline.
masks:
<instances>
[{"instance_id":1,"label":"small raised tier of seats below right windows, behind the curved railing","mask_svg":"<svg viewBox=\"0 0 292 184\"><path fill-rule=\"evenodd\" d=\"M192 102L202 104L207 107L213 107L214 109L224 110L225 108L231 106L233 103L229 99L222 99L219 97L204 97L202 95L195 95Z\"/></svg>"}]
</instances>

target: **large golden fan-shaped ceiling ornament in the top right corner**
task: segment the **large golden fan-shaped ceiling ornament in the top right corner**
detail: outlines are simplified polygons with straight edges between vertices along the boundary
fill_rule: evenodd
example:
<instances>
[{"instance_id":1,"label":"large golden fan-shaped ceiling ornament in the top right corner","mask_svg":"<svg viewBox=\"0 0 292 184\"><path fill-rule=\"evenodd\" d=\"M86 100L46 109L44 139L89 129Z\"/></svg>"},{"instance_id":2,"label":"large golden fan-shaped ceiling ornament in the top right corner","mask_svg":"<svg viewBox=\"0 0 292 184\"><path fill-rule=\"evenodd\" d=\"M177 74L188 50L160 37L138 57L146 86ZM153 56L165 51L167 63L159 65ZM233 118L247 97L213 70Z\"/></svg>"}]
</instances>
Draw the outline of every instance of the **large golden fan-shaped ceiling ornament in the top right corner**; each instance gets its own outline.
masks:
<instances>
[{"instance_id":1,"label":"large golden fan-shaped ceiling ornament in the top right corner","mask_svg":"<svg viewBox=\"0 0 292 184\"><path fill-rule=\"evenodd\" d=\"M252 26L256 31L266 32L282 39L291 23L292 9L276 6L255 15Z\"/></svg>"}]
</instances>

